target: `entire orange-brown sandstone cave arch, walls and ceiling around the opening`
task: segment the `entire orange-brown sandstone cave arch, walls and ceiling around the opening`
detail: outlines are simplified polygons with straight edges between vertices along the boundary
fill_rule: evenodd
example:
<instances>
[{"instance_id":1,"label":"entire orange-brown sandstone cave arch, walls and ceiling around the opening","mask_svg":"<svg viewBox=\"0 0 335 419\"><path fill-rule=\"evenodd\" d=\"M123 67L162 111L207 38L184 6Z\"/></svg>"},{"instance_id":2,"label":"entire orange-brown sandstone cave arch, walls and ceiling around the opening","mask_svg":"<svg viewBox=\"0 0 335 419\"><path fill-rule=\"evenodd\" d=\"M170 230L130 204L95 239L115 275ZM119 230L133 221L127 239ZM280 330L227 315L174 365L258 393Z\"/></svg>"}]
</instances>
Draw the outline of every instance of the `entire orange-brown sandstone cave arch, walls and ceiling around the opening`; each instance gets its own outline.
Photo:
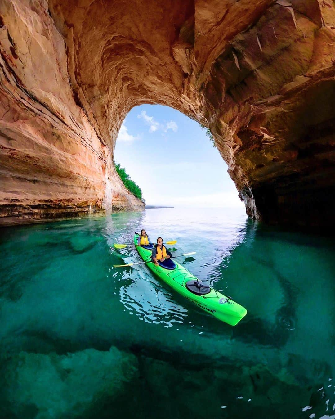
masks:
<instances>
[{"instance_id":1,"label":"entire orange-brown sandstone cave arch, walls and ceiling around the opening","mask_svg":"<svg viewBox=\"0 0 335 419\"><path fill-rule=\"evenodd\" d=\"M113 167L142 103L209 127L247 214L334 225L331 0L4 0L0 222L141 209Z\"/></svg>"}]
</instances>

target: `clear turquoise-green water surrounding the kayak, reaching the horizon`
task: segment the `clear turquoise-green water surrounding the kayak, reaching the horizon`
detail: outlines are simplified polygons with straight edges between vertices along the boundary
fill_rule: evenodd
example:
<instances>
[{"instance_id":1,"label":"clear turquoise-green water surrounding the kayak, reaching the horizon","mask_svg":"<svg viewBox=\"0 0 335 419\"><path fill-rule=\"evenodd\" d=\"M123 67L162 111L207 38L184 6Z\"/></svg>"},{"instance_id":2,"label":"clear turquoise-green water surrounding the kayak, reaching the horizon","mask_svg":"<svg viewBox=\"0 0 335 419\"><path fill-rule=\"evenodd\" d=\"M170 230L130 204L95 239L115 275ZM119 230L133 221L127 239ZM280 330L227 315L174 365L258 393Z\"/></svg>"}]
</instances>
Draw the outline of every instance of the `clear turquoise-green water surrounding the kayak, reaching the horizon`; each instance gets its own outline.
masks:
<instances>
[{"instance_id":1,"label":"clear turquoise-green water surrounding the kayak, reaching the horizon","mask_svg":"<svg viewBox=\"0 0 335 419\"><path fill-rule=\"evenodd\" d=\"M146 228L248 310L235 327L153 277ZM240 210L148 209L0 230L0 417L335 418L334 245Z\"/></svg>"}]
</instances>

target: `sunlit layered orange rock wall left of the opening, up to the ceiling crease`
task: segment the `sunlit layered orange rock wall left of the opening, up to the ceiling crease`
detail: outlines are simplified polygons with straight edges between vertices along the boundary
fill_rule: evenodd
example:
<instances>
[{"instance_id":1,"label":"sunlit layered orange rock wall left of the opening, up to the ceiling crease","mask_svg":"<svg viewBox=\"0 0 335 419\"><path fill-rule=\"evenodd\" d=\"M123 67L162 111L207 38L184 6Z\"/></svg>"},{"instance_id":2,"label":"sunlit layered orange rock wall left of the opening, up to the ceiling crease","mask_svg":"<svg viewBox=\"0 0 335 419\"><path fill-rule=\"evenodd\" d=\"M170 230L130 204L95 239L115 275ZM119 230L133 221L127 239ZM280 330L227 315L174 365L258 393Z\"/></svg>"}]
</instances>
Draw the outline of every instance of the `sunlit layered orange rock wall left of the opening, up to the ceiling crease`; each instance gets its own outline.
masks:
<instances>
[{"instance_id":1,"label":"sunlit layered orange rock wall left of the opening, up to the ceiling crease","mask_svg":"<svg viewBox=\"0 0 335 419\"><path fill-rule=\"evenodd\" d=\"M46 2L0 4L0 223L143 209L76 103Z\"/></svg>"}]
</instances>

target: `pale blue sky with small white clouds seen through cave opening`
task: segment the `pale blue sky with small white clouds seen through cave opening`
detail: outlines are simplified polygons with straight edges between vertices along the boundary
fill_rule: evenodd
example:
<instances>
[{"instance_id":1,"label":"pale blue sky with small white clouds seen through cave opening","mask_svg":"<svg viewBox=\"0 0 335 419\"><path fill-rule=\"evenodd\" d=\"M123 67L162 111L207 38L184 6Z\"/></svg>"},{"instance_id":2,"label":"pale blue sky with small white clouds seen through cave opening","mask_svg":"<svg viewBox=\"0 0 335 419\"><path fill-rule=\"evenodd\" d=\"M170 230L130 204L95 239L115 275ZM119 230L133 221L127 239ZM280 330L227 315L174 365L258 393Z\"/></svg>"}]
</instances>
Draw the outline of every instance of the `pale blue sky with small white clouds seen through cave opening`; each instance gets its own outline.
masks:
<instances>
[{"instance_id":1,"label":"pale blue sky with small white clouds seen through cave opening","mask_svg":"<svg viewBox=\"0 0 335 419\"><path fill-rule=\"evenodd\" d=\"M147 205L244 208L206 131L168 106L131 109L116 140L114 161L142 189Z\"/></svg>"}]
</instances>

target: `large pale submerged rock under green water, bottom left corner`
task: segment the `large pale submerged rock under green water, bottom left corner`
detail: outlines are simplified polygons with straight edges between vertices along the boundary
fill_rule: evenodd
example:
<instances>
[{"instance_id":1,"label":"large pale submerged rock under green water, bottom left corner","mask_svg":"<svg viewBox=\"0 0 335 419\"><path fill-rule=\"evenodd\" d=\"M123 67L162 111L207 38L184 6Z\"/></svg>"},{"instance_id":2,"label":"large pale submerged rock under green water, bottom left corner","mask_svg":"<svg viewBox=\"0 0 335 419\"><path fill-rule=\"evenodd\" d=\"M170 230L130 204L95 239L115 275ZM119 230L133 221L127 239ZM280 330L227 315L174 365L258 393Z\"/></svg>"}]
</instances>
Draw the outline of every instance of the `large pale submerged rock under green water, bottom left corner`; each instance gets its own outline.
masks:
<instances>
[{"instance_id":1,"label":"large pale submerged rock under green water, bottom left corner","mask_svg":"<svg viewBox=\"0 0 335 419\"><path fill-rule=\"evenodd\" d=\"M82 417L115 400L137 373L137 359L115 347L67 355L20 352L6 364L6 402L15 417Z\"/></svg>"}]
</instances>

